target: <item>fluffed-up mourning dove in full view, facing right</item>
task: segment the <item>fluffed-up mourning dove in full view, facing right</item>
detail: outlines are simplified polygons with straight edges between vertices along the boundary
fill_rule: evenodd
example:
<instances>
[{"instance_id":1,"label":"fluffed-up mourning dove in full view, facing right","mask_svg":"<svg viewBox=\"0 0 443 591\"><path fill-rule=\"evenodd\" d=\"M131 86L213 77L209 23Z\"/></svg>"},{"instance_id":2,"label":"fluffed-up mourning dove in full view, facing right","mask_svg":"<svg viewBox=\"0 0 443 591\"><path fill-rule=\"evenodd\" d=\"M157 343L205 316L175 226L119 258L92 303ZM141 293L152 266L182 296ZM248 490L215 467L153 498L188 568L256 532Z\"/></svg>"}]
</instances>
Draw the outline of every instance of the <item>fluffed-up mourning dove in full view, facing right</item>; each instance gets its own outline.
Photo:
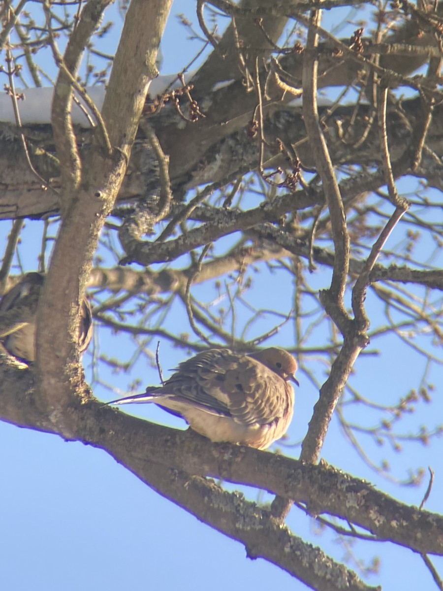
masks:
<instances>
[{"instance_id":1,"label":"fluffed-up mourning dove in full view, facing right","mask_svg":"<svg viewBox=\"0 0 443 591\"><path fill-rule=\"evenodd\" d=\"M211 441L266 449L291 423L295 371L297 362L283 349L209 349L180 363L164 385L108 404L155 402Z\"/></svg>"}]
</instances>

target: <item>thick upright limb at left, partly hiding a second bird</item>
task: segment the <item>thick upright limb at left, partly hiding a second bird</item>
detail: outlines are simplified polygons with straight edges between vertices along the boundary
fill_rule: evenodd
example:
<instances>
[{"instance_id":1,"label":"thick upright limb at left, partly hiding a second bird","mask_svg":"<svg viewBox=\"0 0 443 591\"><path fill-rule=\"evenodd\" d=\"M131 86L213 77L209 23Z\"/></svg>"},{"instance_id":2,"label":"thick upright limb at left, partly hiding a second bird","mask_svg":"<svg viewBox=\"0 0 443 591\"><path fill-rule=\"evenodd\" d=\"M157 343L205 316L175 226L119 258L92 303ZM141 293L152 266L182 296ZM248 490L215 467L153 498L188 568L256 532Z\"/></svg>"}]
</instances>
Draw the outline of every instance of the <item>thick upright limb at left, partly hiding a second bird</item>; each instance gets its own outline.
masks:
<instances>
[{"instance_id":1,"label":"thick upright limb at left, partly hiding a second bird","mask_svg":"<svg viewBox=\"0 0 443 591\"><path fill-rule=\"evenodd\" d=\"M67 437L71 387L87 395L83 371L76 361L79 302L99 232L125 176L149 83L156 75L155 58L171 1L132 0L129 5L102 109L115 152L103 152L97 141L89 160L83 163L81 183L75 195L69 194L71 207L61 223L39 301L39 383L52 410L50 416ZM71 190L70 181L61 187L62 193Z\"/></svg>"}]
</instances>

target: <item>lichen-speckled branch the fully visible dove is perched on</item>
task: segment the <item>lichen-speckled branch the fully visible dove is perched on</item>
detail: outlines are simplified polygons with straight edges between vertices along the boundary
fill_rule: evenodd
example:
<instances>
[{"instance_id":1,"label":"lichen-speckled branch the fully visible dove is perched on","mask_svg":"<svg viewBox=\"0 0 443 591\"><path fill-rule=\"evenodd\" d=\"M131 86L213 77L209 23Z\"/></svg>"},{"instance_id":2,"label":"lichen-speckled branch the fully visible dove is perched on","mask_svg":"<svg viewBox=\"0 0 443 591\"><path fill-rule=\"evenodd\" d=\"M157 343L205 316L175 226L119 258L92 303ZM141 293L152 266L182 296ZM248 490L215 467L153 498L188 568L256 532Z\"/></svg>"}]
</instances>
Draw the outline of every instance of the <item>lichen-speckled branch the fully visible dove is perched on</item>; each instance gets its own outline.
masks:
<instances>
[{"instance_id":1,"label":"lichen-speckled branch the fully visible dove is perched on","mask_svg":"<svg viewBox=\"0 0 443 591\"><path fill-rule=\"evenodd\" d=\"M0 369L2 419L63 435L35 405L32 371ZM378 540L389 540L419 553L443 555L443 517L404 505L332 467L308 465L249 447L212 444L192 431L161 427L93 400L74 402L69 420L70 439L107 451L154 488L153 463L168 470L265 489L305 503L313 515L347 519Z\"/></svg>"}]
</instances>

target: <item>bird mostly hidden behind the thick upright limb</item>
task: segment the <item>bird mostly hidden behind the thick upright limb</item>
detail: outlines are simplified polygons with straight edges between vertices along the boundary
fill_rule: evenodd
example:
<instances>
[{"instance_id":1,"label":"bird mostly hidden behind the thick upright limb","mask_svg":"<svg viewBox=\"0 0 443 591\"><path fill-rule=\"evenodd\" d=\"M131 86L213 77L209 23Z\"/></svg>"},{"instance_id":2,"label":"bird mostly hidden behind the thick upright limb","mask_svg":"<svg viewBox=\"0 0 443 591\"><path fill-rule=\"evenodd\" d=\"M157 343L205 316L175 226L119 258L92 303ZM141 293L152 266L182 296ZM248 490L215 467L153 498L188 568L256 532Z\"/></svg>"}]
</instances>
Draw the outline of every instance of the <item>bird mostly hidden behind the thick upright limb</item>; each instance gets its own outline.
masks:
<instances>
[{"instance_id":1,"label":"bird mostly hidden behind the thick upright limb","mask_svg":"<svg viewBox=\"0 0 443 591\"><path fill-rule=\"evenodd\" d=\"M35 315L44 275L27 273L0 300L0 340L11 355L35 361ZM92 339L93 325L89 301L80 307L79 350L83 353Z\"/></svg>"}]
</instances>

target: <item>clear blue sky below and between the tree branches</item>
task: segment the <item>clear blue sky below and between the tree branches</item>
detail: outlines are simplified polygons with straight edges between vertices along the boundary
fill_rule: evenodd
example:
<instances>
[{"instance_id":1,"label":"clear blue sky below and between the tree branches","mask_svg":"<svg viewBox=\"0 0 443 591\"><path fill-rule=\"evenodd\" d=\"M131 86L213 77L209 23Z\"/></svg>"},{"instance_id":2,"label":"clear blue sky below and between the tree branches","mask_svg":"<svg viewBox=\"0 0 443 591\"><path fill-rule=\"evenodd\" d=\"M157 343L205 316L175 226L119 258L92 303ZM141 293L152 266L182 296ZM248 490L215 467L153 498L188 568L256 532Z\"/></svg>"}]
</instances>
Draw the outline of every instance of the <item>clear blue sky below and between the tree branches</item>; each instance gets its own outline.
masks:
<instances>
[{"instance_id":1,"label":"clear blue sky below and between the tree branches","mask_svg":"<svg viewBox=\"0 0 443 591\"><path fill-rule=\"evenodd\" d=\"M181 70L199 48L196 42L187 40L187 31L175 18L175 15L184 12L197 28L197 18L190 10L193 5L194 2L185 0L174 2L162 41L164 74ZM109 18L115 18L115 9L110 11ZM352 25L350 27L354 28ZM114 40L116 34L117 27L112 35ZM30 221L24 230L21 252L26 271L36 268L35 241L40 236L41 228L40 222ZM9 229L9 222L0 223L0 246L3 246ZM401 236L396 231L388 243L391 248ZM327 287L329 279L328 272L318 272L310 281L313 287L320 289ZM278 273L270 279L262 270L260 274L254 275L253 281L255 293L266 294L270 281L272 287L278 290L282 279ZM203 294L207 290L208 299L212 297L210 286L198 289ZM366 305L377 323L380 304L370 292ZM177 327L181 317L183 309L177 307L168 320L171 330ZM260 325L256 330L260 332ZM312 342L322 342L328 330L325 325L318 327ZM103 337L102 351L111 355L116 341L108 340L109 333L106 331L100 334ZM126 343L123 337L119 338L119 344ZM291 329L288 327L273 342L289 346L294 342L291 338ZM352 384L360 389L362 395L380 404L386 401L394 403L400 395L406 395L410 388L418 387L424 361L413 355L411 349L399 339L374 338L370 349L379 350L380 355L361 356L351 378ZM161 358L166 371L183 361L184 352L161 343ZM89 353L84 358L89 376L91 359ZM323 383L323 363L314 357L305 361L318 381ZM142 366L142 362L136 366L135 372L142 376L146 384L158 381L157 371ZM289 430L291 441L300 441L304 437L312 407L318 398L318 390L307 376L301 374L298 377L301 387L296 393L295 418ZM429 405L418 404L416 413L405 418L405 424L408 426L410 423L411 430L416 430L421 423L431 428L441 421L442 378L441 365L434 365L429 378L436 386L434 401ZM117 385L124 393L129 376L103 373L103 379ZM103 400L111 398L109 391L99 387L95 394ZM154 405L125 407L124 411L161 424L185 427L183 421L170 417ZM366 420L367 424L372 424L379 416L365 411L366 416L361 417L359 411L350 412L356 413L359 420ZM432 440L428 447L405 443L405 452L402 454L393 454L389 446L377 448L370 440L362 441L366 441L367 450L377 462L385 456L389 459L393 475L398 478L405 478L411 466L432 466L435 482L426 508L441 512L441 439ZM299 447L285 449L285 453L298 457ZM427 477L418 488L399 487L377 477L344 439L336 418L331 423L322 457L354 476L370 480L380 490L409 504L419 505L426 490ZM306 589L304 584L272 564L246 558L242 545L211 530L183 509L152 492L105 452L80 443L67 443L56 436L0 423L0 465L0 567L5 589ZM256 491L246 493L248 498L256 500ZM344 560L345 550L337 544L335 535L331 532L318 535L311 519L300 511L291 512L288 525L295 534L314 545L320 545L335 560ZM385 589L432 589L430 574L422 567L421 558L411 551L389 543L364 542L354 544L352 551L355 557L363 557L367 561L375 555L382 559L379 576L370 577L367 580L369 584L382 583ZM434 563L443 571L441 558L435 559ZM353 560L348 566L358 572Z\"/></svg>"}]
</instances>

